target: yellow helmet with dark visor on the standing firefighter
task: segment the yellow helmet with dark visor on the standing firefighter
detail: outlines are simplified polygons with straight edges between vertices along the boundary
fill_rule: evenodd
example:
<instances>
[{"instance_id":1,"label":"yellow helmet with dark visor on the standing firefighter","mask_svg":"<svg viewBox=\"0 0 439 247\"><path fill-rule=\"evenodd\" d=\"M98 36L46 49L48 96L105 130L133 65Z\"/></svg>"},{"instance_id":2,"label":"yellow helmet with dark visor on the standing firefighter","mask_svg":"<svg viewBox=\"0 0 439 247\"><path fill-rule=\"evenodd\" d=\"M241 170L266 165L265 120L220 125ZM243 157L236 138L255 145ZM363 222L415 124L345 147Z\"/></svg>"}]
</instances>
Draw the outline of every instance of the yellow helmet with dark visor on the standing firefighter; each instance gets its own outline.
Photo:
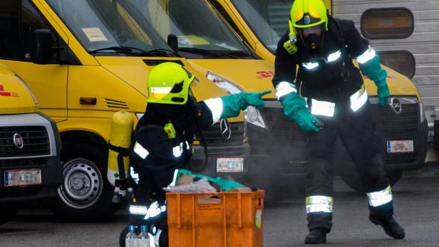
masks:
<instances>
[{"instance_id":1,"label":"yellow helmet with dark visor on the standing firefighter","mask_svg":"<svg viewBox=\"0 0 439 247\"><path fill-rule=\"evenodd\" d=\"M328 31L328 14L323 0L295 0L291 6L290 21L290 28L310 28L324 23Z\"/></svg>"}]
</instances>

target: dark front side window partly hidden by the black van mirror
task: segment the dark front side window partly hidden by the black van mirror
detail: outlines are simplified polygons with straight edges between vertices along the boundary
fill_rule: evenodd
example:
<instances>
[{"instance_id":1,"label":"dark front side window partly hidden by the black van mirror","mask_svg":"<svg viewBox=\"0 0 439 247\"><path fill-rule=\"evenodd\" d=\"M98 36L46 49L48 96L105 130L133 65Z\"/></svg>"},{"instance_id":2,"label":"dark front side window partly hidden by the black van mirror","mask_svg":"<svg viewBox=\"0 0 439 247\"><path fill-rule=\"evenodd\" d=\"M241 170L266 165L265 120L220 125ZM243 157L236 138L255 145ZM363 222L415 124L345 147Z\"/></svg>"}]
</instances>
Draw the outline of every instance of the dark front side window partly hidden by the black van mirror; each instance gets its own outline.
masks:
<instances>
[{"instance_id":1,"label":"dark front side window partly hidden by the black van mirror","mask_svg":"<svg viewBox=\"0 0 439 247\"><path fill-rule=\"evenodd\" d=\"M23 0L21 5L21 30L23 41L23 59L31 60L33 50L33 31L36 29L49 29L45 19L41 16L29 0ZM53 30L52 30L53 32ZM54 32L53 32L54 33ZM56 36L52 35L52 46L56 46Z\"/></svg>"}]
</instances>

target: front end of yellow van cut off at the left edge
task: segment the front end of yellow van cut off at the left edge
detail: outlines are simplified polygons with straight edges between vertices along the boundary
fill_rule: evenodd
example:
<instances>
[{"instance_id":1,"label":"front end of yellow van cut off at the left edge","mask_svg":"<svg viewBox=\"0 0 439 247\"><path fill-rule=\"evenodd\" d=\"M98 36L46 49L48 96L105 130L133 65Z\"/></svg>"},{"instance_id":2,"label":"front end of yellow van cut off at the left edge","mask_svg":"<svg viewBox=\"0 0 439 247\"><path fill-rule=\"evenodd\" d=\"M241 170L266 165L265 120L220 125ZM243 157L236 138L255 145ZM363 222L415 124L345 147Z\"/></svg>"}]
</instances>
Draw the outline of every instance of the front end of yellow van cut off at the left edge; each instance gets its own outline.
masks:
<instances>
[{"instance_id":1,"label":"front end of yellow van cut off at the left edge","mask_svg":"<svg viewBox=\"0 0 439 247\"><path fill-rule=\"evenodd\" d=\"M16 204L53 198L62 181L55 122L19 75L0 63L0 224Z\"/></svg>"}]
</instances>

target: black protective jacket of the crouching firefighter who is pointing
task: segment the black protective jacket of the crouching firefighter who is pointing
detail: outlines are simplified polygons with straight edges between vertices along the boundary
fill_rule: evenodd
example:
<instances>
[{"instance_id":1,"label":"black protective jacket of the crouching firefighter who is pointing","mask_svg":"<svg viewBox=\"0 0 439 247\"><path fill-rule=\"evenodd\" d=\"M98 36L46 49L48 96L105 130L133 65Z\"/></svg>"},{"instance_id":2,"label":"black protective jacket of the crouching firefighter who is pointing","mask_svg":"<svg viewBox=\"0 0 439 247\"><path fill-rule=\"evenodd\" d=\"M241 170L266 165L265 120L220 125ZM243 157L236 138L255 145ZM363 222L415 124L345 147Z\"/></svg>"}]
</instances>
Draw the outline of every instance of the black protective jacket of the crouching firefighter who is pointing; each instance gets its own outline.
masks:
<instances>
[{"instance_id":1,"label":"black protective jacket of the crouching firefighter who is pointing","mask_svg":"<svg viewBox=\"0 0 439 247\"><path fill-rule=\"evenodd\" d=\"M155 113L147 109L133 135L130 166L139 174L139 187L148 189L146 194L153 192L164 195L162 188L172 182L175 169L187 169L194 133L213 123L212 112L204 102L195 103L195 109L189 112L184 109L160 112L162 110L166 109L158 109ZM175 127L175 138L170 138L165 132L164 125L169 120L166 120L168 117L160 119L163 115L171 119ZM164 198L157 199L162 201Z\"/></svg>"}]
</instances>

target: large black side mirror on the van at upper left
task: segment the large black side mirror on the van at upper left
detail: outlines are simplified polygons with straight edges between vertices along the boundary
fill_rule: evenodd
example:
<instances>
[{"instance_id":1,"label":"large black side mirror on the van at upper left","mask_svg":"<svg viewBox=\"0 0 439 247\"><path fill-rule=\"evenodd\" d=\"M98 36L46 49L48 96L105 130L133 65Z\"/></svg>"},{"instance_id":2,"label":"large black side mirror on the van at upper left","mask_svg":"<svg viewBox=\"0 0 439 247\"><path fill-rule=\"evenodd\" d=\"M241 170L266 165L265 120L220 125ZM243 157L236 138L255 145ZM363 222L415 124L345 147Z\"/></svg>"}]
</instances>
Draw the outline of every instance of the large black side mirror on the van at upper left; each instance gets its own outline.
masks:
<instances>
[{"instance_id":1,"label":"large black side mirror on the van at upper left","mask_svg":"<svg viewBox=\"0 0 439 247\"><path fill-rule=\"evenodd\" d=\"M52 60L52 31L36 29L33 31L34 43L32 61L36 64L47 64Z\"/></svg>"}]
</instances>

